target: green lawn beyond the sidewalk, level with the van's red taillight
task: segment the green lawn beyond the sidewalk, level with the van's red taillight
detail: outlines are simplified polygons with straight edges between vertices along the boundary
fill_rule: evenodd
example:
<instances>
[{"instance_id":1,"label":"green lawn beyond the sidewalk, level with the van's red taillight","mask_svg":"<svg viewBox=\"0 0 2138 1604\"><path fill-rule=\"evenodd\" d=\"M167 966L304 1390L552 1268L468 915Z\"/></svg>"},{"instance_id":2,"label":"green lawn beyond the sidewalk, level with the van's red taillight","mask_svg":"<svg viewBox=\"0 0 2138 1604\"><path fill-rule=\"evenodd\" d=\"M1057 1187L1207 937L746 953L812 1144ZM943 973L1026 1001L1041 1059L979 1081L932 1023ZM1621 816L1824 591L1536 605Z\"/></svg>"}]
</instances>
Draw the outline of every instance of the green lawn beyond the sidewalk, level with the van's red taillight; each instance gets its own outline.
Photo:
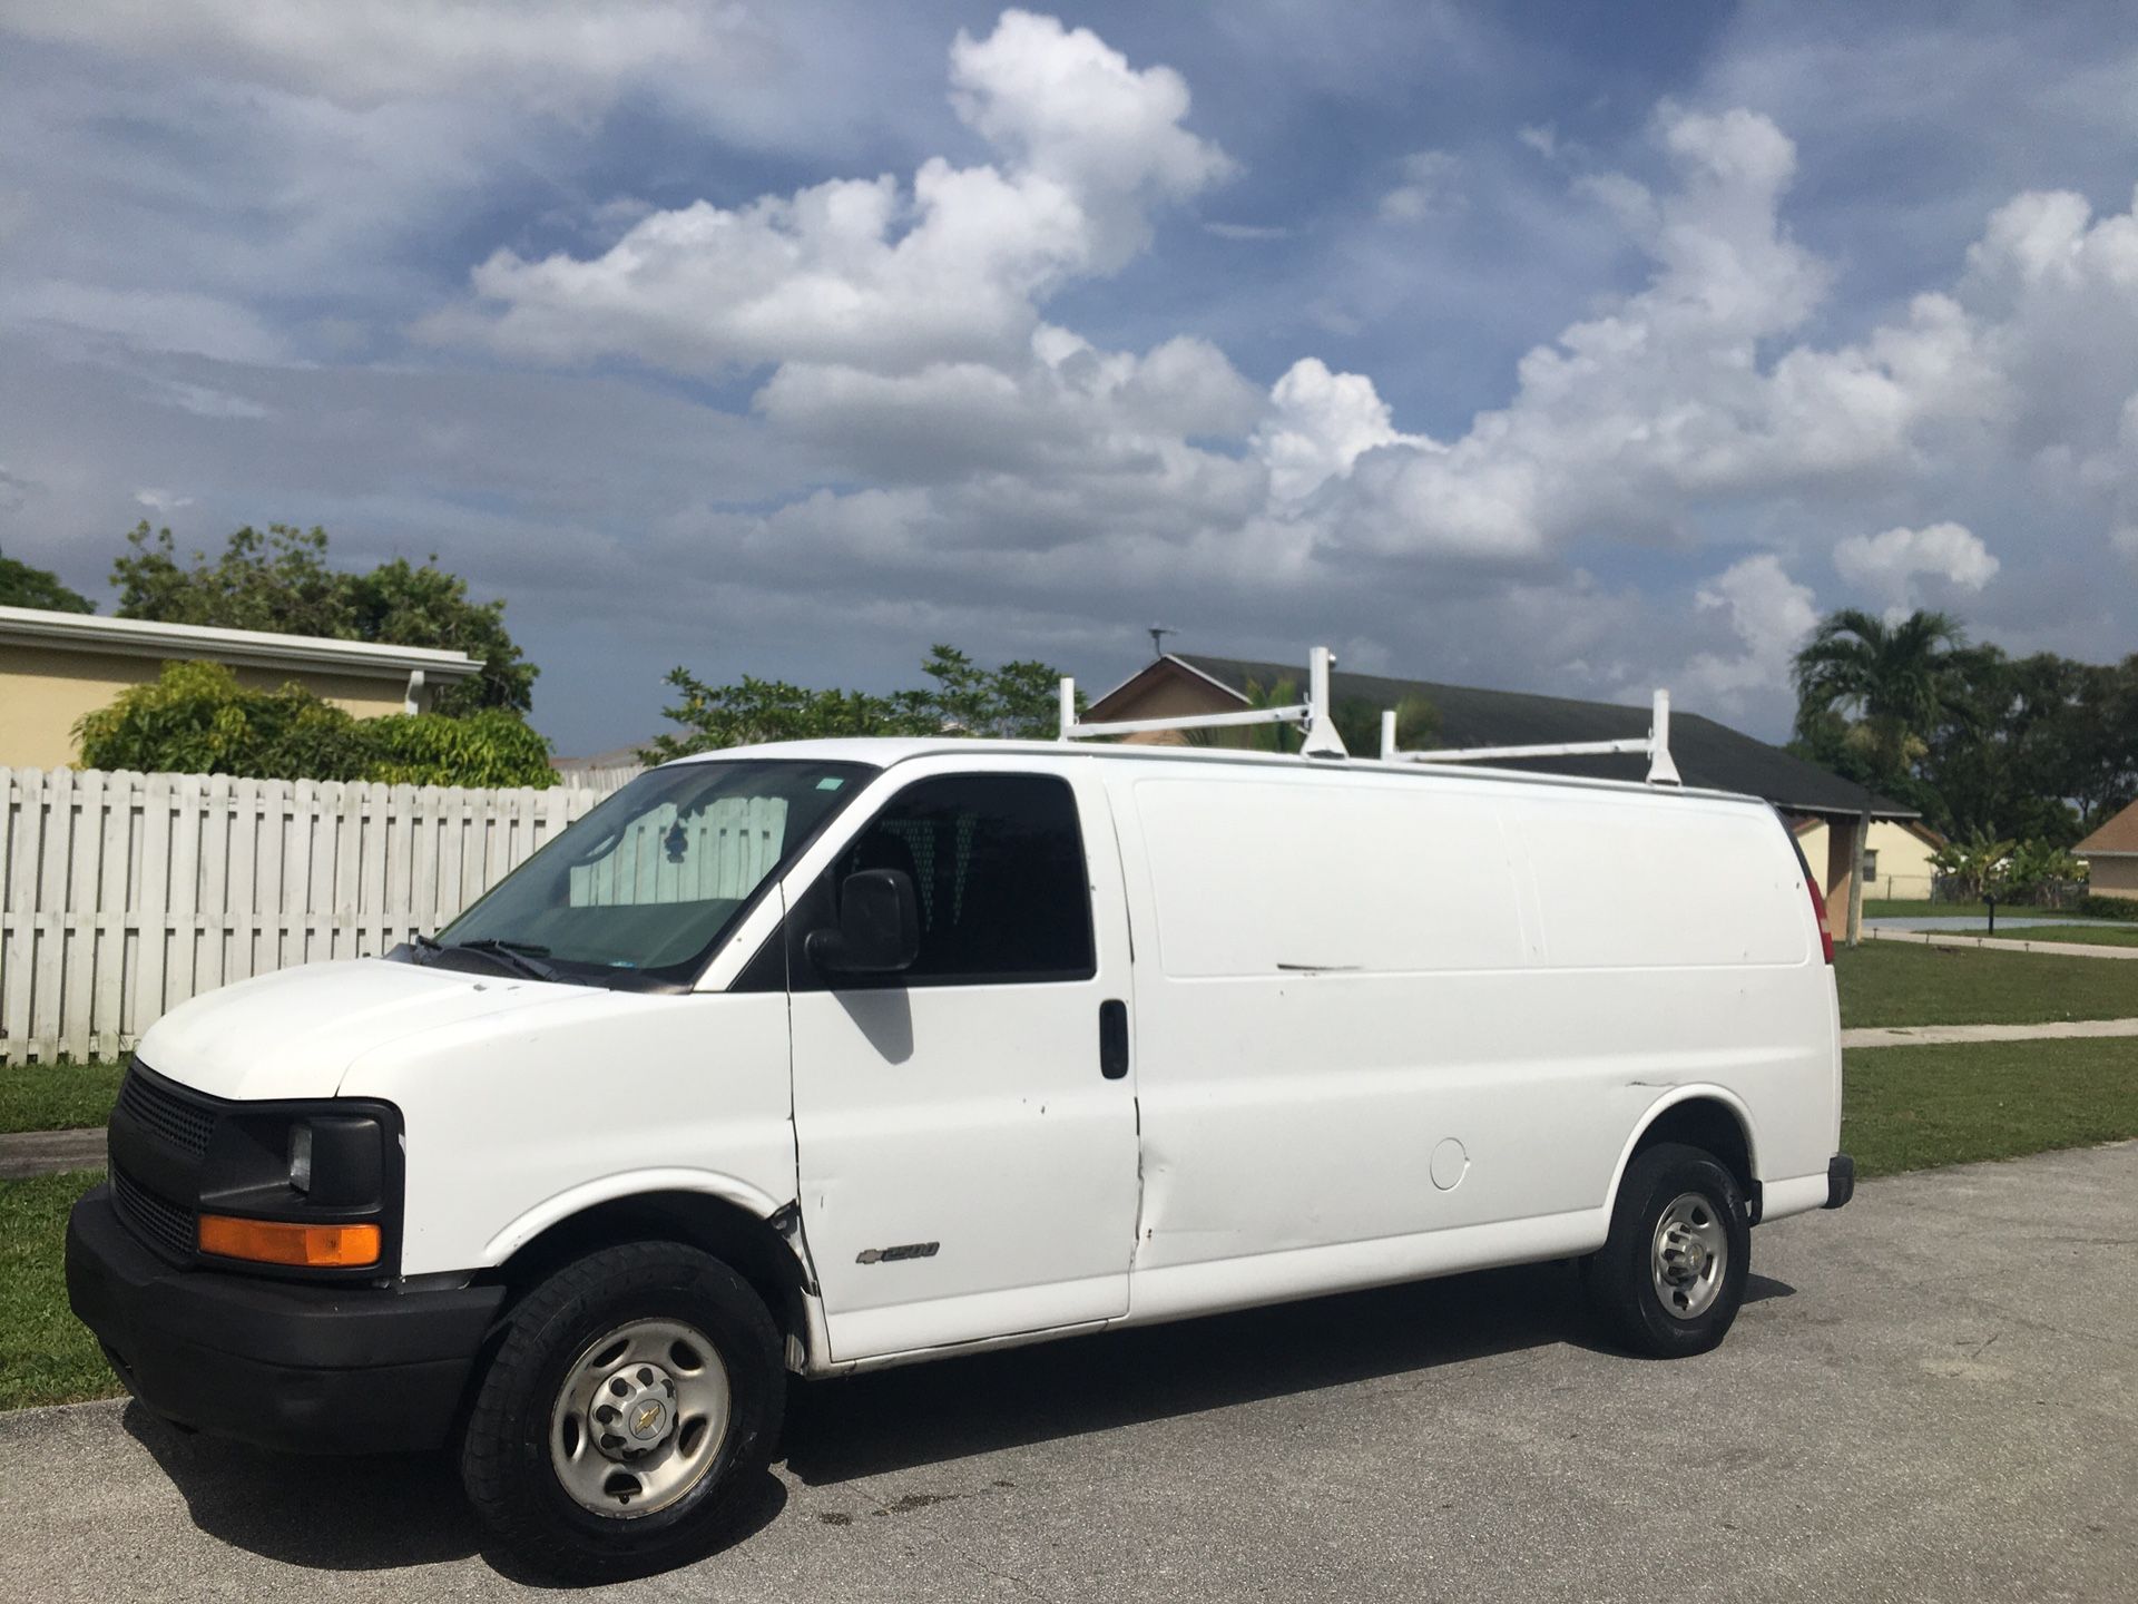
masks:
<instances>
[{"instance_id":1,"label":"green lawn beyond the sidewalk, level with the van's red taillight","mask_svg":"<svg viewBox=\"0 0 2138 1604\"><path fill-rule=\"evenodd\" d=\"M1834 973L1843 1024L2046 1024L2138 1016L2138 962L2112 958L1864 941L1834 954Z\"/></svg>"}]
</instances>

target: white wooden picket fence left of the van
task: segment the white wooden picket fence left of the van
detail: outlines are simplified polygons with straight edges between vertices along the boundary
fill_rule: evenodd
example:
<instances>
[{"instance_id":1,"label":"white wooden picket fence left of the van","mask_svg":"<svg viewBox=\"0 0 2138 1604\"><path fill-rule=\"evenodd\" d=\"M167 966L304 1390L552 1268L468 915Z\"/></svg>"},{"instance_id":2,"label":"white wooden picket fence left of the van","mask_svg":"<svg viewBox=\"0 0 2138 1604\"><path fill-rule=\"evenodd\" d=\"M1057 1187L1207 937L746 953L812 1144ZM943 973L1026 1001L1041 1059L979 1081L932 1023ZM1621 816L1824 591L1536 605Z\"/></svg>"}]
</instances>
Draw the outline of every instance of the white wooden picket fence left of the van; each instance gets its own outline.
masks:
<instances>
[{"instance_id":1,"label":"white wooden picket fence left of the van","mask_svg":"<svg viewBox=\"0 0 2138 1604\"><path fill-rule=\"evenodd\" d=\"M0 1063L113 1059L233 980L436 930L597 787L0 768Z\"/></svg>"}]
</instances>

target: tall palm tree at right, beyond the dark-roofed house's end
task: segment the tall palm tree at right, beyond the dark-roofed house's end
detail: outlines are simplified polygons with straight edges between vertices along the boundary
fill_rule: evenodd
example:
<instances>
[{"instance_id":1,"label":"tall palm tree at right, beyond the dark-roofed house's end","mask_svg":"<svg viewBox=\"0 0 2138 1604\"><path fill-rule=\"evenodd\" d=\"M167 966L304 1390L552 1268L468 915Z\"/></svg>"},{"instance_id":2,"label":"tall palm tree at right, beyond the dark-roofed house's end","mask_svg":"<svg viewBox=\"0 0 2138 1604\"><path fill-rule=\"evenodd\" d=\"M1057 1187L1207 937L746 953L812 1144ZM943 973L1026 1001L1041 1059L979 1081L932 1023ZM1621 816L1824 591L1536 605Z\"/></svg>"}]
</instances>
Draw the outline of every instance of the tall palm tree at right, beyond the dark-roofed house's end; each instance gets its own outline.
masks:
<instances>
[{"instance_id":1,"label":"tall palm tree at right, beyond the dark-roofed house's end","mask_svg":"<svg viewBox=\"0 0 2138 1604\"><path fill-rule=\"evenodd\" d=\"M1860 607L1828 614L1792 669L1798 734L1854 716L1847 738L1877 776L1905 776L1950 706L1954 657L1965 644L1961 620L1943 612L1918 610L1894 622Z\"/></svg>"}]
</instances>

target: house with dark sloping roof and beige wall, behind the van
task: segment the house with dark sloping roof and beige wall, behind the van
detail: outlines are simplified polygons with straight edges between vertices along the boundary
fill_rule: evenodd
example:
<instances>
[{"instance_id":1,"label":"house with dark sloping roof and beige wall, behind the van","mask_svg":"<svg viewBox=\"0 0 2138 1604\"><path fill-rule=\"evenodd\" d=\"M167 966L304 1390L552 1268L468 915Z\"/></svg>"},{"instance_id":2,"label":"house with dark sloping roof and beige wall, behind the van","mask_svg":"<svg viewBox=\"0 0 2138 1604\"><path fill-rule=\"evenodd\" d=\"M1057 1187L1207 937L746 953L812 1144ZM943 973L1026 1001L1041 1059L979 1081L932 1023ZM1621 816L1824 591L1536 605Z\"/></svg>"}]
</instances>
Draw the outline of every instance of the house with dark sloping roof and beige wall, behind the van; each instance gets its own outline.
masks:
<instances>
[{"instance_id":1,"label":"house with dark sloping roof and beige wall, behind the van","mask_svg":"<svg viewBox=\"0 0 2138 1604\"><path fill-rule=\"evenodd\" d=\"M1236 657L1167 652L1093 701L1084 716L1099 723L1238 712L1251 706L1251 693L1268 695L1285 682L1296 691L1302 678L1304 672L1296 663L1249 663ZM1336 723L1343 725L1349 714L1362 716L1360 734L1368 740L1377 738L1368 731L1377 731L1381 710L1400 708L1407 701L1430 704L1435 725L1426 744L1432 746L1537 746L1623 740L1648 731L1648 708L1522 691L1486 691L1473 684L1396 680L1379 674L1338 672L1330 676L1330 706ZM1178 736L1165 731L1129 736L1129 740L1178 740ZM1837 939L1854 939L1856 935L1849 926L1849 911L1860 905L1860 898L1852 898L1858 838L1869 845L1871 832L1903 821L1920 830L1911 808L1698 712L1672 716L1670 755L1687 785L1740 791L1772 802L1775 811L1798 832L1798 843L1804 840L1802 826L1817 828L1817 840L1804 847L1804 858L1826 896L1826 922ZM1640 778L1642 764L1640 757L1537 757L1505 766L1631 781ZM1922 834L1935 840L1935 834ZM1920 840L1918 836L1909 838ZM1884 870L1888 862L1901 870L1911 860L1907 855L1879 860L1877 866ZM1864 868L1871 864L1866 862ZM1689 862L1685 873L1698 875L1700 864ZM1866 894L1884 896L1886 892L1871 892L1866 885Z\"/></svg>"}]
</instances>

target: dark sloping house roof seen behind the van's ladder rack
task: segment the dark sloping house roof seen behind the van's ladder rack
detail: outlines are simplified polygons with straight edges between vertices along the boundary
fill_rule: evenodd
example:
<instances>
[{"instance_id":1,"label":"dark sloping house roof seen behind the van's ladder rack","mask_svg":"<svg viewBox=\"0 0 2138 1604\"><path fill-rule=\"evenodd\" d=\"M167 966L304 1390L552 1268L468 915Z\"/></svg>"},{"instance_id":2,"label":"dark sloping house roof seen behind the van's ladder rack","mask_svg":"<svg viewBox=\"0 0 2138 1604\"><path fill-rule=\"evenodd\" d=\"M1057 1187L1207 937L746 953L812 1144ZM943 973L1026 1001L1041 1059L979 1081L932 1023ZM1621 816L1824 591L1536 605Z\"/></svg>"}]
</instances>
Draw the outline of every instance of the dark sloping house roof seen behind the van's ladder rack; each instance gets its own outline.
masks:
<instances>
[{"instance_id":1,"label":"dark sloping house roof seen behind the van's ladder rack","mask_svg":"<svg viewBox=\"0 0 2138 1604\"><path fill-rule=\"evenodd\" d=\"M1298 665L1251 663L1238 657L1206 657L1202 652L1167 652L1142 674L1110 691L1095 704L1103 716L1105 704L1161 665L1187 669L1244 699L1246 682L1274 687L1281 680L1302 684ZM1527 691L1482 691L1471 684L1439 684L1432 680L1396 680L1379 674L1330 676L1330 701L1370 701L1394 708L1405 697L1426 697L1441 714L1437 744L1441 746L1546 746L1578 740L1627 740L1648 734L1648 708L1623 708L1612 701L1576 701ZM1779 746L1738 734L1698 712L1672 710L1670 755L1687 785L1713 791L1740 791L1766 798L1787 813L1858 815L1875 819L1914 819L1916 808L1866 791L1817 764L1792 757ZM1618 757L1531 757L1494 761L1494 768L1533 770L1541 774L1578 774L1601 781L1638 781L1646 772L1640 755Z\"/></svg>"}]
</instances>

